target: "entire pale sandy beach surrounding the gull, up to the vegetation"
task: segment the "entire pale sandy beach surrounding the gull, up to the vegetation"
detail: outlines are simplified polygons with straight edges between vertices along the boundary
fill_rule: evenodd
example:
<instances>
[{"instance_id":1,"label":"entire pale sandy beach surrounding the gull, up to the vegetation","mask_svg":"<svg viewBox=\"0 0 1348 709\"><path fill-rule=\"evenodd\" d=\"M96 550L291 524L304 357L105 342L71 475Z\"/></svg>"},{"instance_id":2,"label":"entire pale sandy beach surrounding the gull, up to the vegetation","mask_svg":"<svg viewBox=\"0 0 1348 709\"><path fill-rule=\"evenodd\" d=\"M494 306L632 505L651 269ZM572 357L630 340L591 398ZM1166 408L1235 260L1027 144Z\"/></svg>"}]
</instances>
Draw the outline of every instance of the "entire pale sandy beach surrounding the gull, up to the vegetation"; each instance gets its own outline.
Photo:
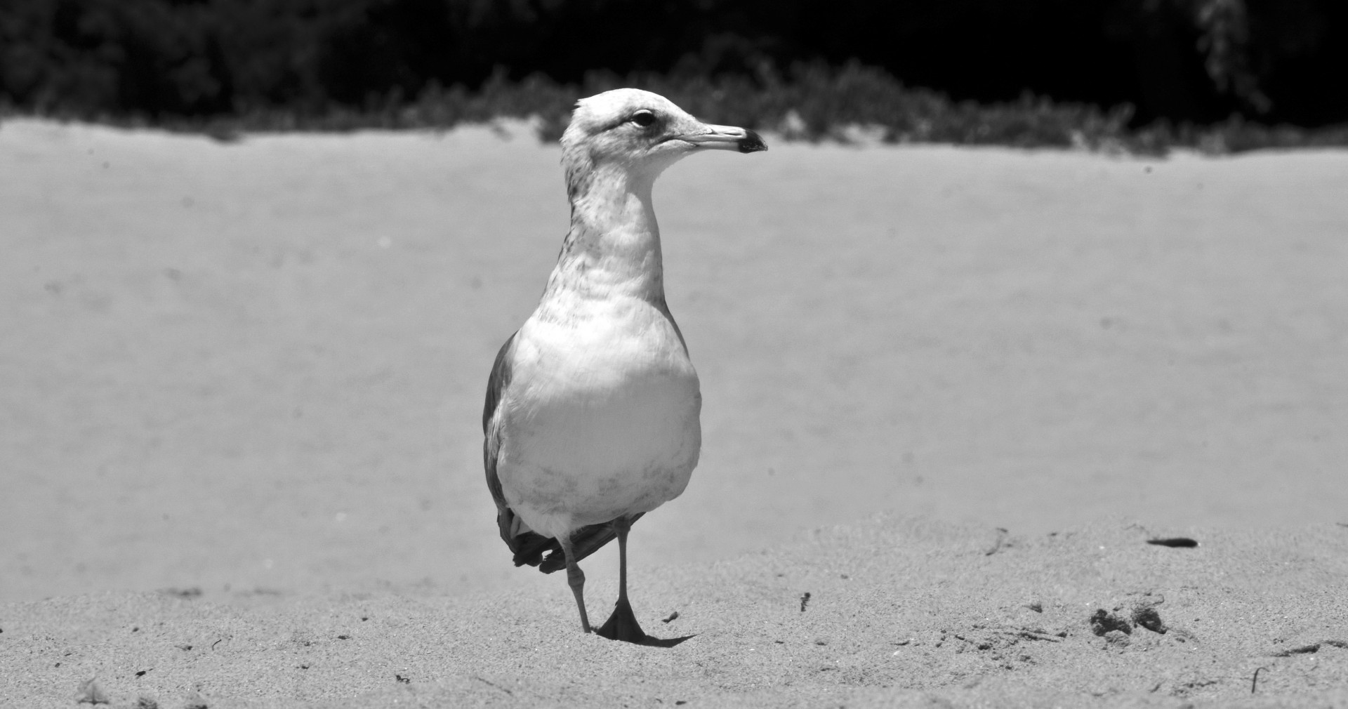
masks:
<instances>
[{"instance_id":1,"label":"entire pale sandy beach surrounding the gull, up to the vegetation","mask_svg":"<svg viewBox=\"0 0 1348 709\"><path fill-rule=\"evenodd\" d=\"M495 536L481 394L566 225L512 131L0 125L0 701L1345 705L1348 154L673 168L655 651Z\"/></svg>"}]
</instances>

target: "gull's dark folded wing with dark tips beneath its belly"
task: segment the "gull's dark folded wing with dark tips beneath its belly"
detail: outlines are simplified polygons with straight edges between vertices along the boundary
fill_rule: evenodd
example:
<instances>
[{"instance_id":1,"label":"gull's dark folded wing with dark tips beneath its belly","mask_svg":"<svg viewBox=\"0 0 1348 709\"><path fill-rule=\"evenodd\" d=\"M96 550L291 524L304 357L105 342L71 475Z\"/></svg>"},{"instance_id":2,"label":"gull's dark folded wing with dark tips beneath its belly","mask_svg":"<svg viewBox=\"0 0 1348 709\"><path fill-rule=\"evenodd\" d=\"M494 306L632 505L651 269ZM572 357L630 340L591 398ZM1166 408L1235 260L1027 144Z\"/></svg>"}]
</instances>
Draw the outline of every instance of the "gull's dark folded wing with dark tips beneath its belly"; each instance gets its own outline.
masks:
<instances>
[{"instance_id":1,"label":"gull's dark folded wing with dark tips beneath its belly","mask_svg":"<svg viewBox=\"0 0 1348 709\"><path fill-rule=\"evenodd\" d=\"M487 469L487 489L492 492L492 500L496 503L496 526L506 546L515 555L515 566L527 563L538 566L538 570L550 574L566 567L566 555L562 553L562 545L551 536L543 536L534 531L515 532L519 527L515 520L515 511L506 501L506 495L501 492L501 481L496 476L496 457L500 452L500 426L496 418L506 390L510 388L516 337L519 337L519 332L510 336L510 340L501 345L500 352L496 353L496 363L492 364L492 375L487 379L487 402L483 404L483 466ZM632 515L631 520L636 522L640 516ZM611 522L589 524L576 530L572 532L572 547L576 551L576 561L599 551L600 547L612 542L616 536L617 532L613 531Z\"/></svg>"}]
</instances>

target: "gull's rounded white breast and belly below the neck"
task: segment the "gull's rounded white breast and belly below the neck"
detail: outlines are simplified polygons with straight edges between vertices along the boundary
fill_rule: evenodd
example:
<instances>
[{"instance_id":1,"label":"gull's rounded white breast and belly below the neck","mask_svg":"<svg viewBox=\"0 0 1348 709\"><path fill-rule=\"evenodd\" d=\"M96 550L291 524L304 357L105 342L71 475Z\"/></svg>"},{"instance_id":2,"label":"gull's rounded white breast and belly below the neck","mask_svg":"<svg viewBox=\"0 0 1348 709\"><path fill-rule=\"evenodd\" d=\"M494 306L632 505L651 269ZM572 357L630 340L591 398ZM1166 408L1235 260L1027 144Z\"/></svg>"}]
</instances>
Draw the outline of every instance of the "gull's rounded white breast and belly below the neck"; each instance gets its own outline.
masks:
<instances>
[{"instance_id":1,"label":"gull's rounded white breast and belly below the neck","mask_svg":"<svg viewBox=\"0 0 1348 709\"><path fill-rule=\"evenodd\" d=\"M501 489L553 536L677 497L701 448L697 372L665 314L634 298L568 311L520 329L500 410Z\"/></svg>"}]
</instances>

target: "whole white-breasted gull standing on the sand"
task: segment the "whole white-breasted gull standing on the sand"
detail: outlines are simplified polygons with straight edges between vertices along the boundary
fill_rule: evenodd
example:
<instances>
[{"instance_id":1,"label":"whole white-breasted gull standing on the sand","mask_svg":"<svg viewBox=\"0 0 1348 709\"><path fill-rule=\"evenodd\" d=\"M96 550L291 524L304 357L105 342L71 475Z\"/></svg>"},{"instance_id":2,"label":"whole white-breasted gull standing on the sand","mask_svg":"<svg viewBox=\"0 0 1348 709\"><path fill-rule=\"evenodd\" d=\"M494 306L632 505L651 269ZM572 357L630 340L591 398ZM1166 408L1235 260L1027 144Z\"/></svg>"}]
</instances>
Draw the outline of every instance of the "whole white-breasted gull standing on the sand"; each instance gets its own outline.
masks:
<instances>
[{"instance_id":1,"label":"whole white-breasted gull standing on the sand","mask_svg":"<svg viewBox=\"0 0 1348 709\"><path fill-rule=\"evenodd\" d=\"M651 187L669 166L709 150L767 144L650 92L577 101L562 135L572 228L538 307L501 345L487 384L483 457L501 539L515 566L565 567L581 631L612 640L683 640L638 624L627 532L683 492L702 445L702 394L665 303ZM617 604L594 629L578 562L613 538Z\"/></svg>"}]
</instances>

